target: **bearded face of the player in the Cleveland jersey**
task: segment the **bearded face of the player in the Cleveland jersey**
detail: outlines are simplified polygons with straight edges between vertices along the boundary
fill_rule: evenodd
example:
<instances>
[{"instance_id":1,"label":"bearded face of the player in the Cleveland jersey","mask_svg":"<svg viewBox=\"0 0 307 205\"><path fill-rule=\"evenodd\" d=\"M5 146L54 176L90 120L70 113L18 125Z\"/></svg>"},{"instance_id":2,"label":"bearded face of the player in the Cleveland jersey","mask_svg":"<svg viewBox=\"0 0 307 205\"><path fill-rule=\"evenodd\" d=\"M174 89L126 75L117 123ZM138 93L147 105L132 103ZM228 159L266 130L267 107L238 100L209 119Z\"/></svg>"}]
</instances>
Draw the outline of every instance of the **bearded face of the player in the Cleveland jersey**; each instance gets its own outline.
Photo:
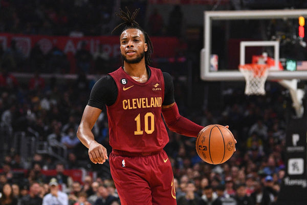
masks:
<instances>
[{"instance_id":1,"label":"bearded face of the player in the Cleveland jersey","mask_svg":"<svg viewBox=\"0 0 307 205\"><path fill-rule=\"evenodd\" d=\"M139 63L144 59L147 44L142 31L139 29L126 29L120 35L120 52L129 64Z\"/></svg>"}]
</instances>

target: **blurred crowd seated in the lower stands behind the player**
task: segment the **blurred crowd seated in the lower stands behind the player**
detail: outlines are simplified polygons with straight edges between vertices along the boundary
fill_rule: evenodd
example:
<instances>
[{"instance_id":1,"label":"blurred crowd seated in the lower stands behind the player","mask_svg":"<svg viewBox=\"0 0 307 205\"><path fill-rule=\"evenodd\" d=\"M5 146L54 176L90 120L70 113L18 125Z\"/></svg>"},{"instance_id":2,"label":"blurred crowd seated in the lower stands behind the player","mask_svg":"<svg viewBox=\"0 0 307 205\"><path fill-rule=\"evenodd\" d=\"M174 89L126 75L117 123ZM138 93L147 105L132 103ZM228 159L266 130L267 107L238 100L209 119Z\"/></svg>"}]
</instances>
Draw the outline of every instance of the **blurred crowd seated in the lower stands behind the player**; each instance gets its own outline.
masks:
<instances>
[{"instance_id":1,"label":"blurred crowd seated in the lower stands behind the player","mask_svg":"<svg viewBox=\"0 0 307 205\"><path fill-rule=\"evenodd\" d=\"M48 198L48 193L52 194L52 186L55 185L50 182L50 176L43 175L42 171L59 170L59 166L60 172L85 169L96 173L90 184L85 182L85 178L84 181L76 182L53 176L58 183L55 187L63 195L68 195L70 204L85 199L95 204L90 200L93 193L98 198L104 198L101 198L103 201L106 200L104 192L117 197L108 163L92 164L86 148L76 137L78 122L94 83L94 79L88 80L84 74L80 74L76 80L60 81L56 78L44 79L36 73L25 82L19 81L9 72L1 73L0 135L4 156L0 175L2 200L6 200L4 196L13 189L12 186L14 189L19 188L20 193L25 195L21 197L21 194L14 193L19 202L25 197L29 198L27 194ZM173 166L178 204L274 204L284 176L286 125L283 107L286 97L281 94L282 89L268 83L271 87L267 88L266 96L253 97L246 97L242 89L225 90L221 92L221 98L227 104L218 109L210 106L200 109L185 107L185 95L181 88L186 85L176 77L174 84L175 99L183 116L201 125L229 125L238 141L234 155L222 165L213 166L203 162L196 154L195 138L169 131L170 141L165 151ZM211 87L202 82L199 85L208 89ZM59 162L59 158L50 153L36 153L23 159L17 148L7 149L15 148L12 147L14 135L10 135L10 130L12 133L22 131L26 136L35 136L38 142L46 142L51 151L62 153L64 162ZM97 141L110 153L112 148L108 145L105 110L99 116L93 132ZM78 192L73 191L74 185L79 187ZM94 185L101 191L87 192ZM71 199L72 192L75 192L74 200Z\"/></svg>"}]
</instances>

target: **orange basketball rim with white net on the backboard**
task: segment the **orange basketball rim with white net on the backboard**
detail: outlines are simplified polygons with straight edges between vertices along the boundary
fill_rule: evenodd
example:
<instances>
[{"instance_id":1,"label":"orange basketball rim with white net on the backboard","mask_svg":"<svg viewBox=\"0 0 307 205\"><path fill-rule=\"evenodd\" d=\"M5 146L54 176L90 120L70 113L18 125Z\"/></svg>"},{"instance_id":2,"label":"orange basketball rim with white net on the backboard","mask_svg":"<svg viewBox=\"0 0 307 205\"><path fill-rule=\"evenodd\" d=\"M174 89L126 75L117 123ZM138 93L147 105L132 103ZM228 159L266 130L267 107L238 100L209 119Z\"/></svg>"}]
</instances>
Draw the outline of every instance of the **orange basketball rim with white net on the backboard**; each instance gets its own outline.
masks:
<instances>
[{"instance_id":1,"label":"orange basketball rim with white net on the backboard","mask_svg":"<svg viewBox=\"0 0 307 205\"><path fill-rule=\"evenodd\" d=\"M245 94L265 95L265 83L268 77L269 66L267 64L239 65L246 81Z\"/></svg>"}]
</instances>

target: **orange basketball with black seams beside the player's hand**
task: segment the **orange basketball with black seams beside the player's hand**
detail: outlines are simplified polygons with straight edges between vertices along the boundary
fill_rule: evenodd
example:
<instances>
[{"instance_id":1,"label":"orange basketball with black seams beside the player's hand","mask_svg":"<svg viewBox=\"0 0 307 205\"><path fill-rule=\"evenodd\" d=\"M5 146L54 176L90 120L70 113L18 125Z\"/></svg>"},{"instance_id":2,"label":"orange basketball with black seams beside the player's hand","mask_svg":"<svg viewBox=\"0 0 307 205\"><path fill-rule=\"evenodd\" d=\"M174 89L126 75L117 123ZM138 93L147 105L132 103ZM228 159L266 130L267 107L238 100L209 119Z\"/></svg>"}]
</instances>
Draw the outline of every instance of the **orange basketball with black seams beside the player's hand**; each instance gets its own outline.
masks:
<instances>
[{"instance_id":1,"label":"orange basketball with black seams beside the player's hand","mask_svg":"<svg viewBox=\"0 0 307 205\"><path fill-rule=\"evenodd\" d=\"M196 138L196 152L207 163L218 165L233 154L235 139L225 126L209 125Z\"/></svg>"}]
</instances>

